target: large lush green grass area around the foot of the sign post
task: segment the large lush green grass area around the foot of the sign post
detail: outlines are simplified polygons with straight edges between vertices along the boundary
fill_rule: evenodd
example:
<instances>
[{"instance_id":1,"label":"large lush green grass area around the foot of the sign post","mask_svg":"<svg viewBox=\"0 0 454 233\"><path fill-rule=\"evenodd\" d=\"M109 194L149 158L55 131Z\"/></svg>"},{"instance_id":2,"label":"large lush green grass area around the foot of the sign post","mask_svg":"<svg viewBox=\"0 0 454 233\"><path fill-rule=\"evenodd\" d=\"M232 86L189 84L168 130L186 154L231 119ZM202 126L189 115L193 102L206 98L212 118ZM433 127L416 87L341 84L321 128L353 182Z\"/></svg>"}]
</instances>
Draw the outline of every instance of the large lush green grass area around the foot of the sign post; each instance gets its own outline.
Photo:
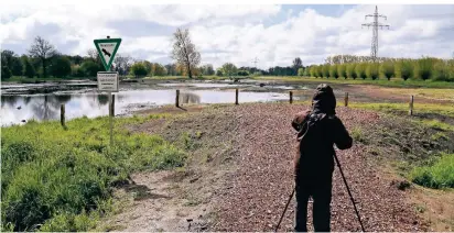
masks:
<instances>
[{"instance_id":1,"label":"large lush green grass area around the foot of the sign post","mask_svg":"<svg viewBox=\"0 0 454 233\"><path fill-rule=\"evenodd\" d=\"M174 145L122 127L150 118L165 115L116 119L112 147L108 118L2 127L2 230L88 231L129 174L183 166Z\"/></svg>"}]
</instances>

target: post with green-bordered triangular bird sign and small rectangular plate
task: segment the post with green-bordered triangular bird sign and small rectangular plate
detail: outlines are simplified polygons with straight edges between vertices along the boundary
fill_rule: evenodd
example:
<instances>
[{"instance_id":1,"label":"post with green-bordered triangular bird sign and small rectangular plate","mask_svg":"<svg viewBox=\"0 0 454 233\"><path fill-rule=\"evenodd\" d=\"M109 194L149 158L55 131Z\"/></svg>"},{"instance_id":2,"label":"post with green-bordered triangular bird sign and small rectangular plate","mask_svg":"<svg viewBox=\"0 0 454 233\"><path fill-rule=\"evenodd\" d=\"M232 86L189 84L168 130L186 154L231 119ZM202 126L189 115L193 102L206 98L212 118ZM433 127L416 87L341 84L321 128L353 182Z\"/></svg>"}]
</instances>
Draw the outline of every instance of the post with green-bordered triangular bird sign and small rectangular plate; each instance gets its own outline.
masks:
<instances>
[{"instance_id":1,"label":"post with green-bordered triangular bird sign and small rectangular plate","mask_svg":"<svg viewBox=\"0 0 454 233\"><path fill-rule=\"evenodd\" d=\"M95 46L98 51L99 57L101 58L102 65L106 71L99 71L97 75L98 79L98 91L107 91L109 96L109 124L110 124L110 146L114 145L114 115L112 115L112 92L118 92L118 73L110 71L110 66L112 65L114 57L117 54L118 47L121 44L121 38L107 38L95 40Z\"/></svg>"}]
</instances>

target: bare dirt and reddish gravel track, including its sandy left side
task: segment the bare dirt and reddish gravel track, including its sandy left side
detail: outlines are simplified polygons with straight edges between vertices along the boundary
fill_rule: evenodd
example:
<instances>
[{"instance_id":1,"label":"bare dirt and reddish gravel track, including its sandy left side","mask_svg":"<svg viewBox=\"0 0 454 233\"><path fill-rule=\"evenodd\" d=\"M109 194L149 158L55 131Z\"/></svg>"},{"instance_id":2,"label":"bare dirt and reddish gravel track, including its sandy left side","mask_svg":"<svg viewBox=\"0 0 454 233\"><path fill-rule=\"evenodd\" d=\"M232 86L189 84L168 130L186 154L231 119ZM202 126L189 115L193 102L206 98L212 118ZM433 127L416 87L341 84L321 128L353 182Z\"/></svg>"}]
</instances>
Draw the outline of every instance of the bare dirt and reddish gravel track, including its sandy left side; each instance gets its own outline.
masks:
<instances>
[{"instance_id":1,"label":"bare dirt and reddish gravel track, including its sandy left side","mask_svg":"<svg viewBox=\"0 0 454 233\"><path fill-rule=\"evenodd\" d=\"M191 231L272 231L292 190L292 158L295 148L292 116L306 107L284 103L240 104L207 108L174 120L151 120L132 131L158 133L177 142L182 132L199 132L198 145L191 149L193 156L186 175L169 182L169 190L155 181L148 181L148 174L136 176L138 184L150 190L160 190L169 199L137 200L126 215L137 215L133 221L119 221L127 231L187 231L187 218L180 214L171 224L160 223L165 214L195 211L194 219L204 228ZM375 124L379 115L368 111L337 109L347 129ZM348 151L337 152L350 190L357 201L366 231L423 231L421 220L406 201L404 192L391 185L392 178L377 169L360 144ZM204 158L204 163L201 163ZM206 162L206 163L205 163ZM173 171L172 171L173 173ZM176 173L174 173L176 174ZM169 175L172 176L172 175ZM144 178L145 177L145 178ZM194 178L196 177L196 178ZM336 168L332 201L332 231L360 231L347 190ZM158 187L158 189L156 189ZM180 188L179 188L180 187ZM208 193L208 195L206 195ZM198 196L195 207L185 207L187 196ZM151 203L151 204L150 204ZM154 207L159 207L159 210ZM310 210L312 206L309 206ZM206 210L205 210L206 209ZM292 231L294 199L289 207L280 231ZM204 210L204 211L201 211ZM162 212L164 215L142 212ZM310 213L310 223L312 217ZM121 219L125 214L122 214ZM131 223L133 222L133 223ZM142 223L145 222L145 223ZM134 224L134 225L131 225ZM150 224L160 225L159 229ZM207 228L205 228L207 226ZM312 225L310 229L312 230Z\"/></svg>"}]
</instances>

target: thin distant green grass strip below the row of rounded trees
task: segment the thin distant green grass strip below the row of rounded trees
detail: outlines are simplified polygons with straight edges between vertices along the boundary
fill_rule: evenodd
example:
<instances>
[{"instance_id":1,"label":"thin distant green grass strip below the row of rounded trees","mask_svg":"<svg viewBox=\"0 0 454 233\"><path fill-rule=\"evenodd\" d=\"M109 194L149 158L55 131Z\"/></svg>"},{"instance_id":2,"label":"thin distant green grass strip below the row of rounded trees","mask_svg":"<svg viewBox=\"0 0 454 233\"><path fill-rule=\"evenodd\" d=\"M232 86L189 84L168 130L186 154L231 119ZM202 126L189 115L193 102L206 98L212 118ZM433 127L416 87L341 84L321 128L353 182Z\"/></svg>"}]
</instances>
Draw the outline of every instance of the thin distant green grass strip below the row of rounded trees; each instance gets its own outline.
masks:
<instances>
[{"instance_id":1,"label":"thin distant green grass strip below the row of rounded trees","mask_svg":"<svg viewBox=\"0 0 454 233\"><path fill-rule=\"evenodd\" d=\"M413 88L454 88L454 82L448 81L433 81L433 80L413 80L407 81L400 78L385 79L380 77L377 80L372 79L334 79L334 78L313 78L313 77L299 77L299 76L259 76L253 77L257 80L280 80L280 81L305 81L305 82L326 82L326 84L345 84L345 85L377 85L381 87L413 87Z\"/></svg>"}]
</instances>

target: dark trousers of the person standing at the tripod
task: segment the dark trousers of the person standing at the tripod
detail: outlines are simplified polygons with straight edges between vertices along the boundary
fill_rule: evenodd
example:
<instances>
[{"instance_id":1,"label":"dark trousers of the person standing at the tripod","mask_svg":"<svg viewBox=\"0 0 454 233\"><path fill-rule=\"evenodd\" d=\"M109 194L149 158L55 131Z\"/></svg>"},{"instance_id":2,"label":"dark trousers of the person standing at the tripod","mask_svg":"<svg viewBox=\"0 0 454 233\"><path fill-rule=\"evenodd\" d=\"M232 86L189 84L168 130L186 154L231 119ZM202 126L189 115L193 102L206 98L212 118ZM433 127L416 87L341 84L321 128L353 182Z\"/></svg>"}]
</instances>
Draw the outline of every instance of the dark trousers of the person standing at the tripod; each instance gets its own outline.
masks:
<instances>
[{"instance_id":1,"label":"dark trousers of the person standing at the tripod","mask_svg":"<svg viewBox=\"0 0 454 233\"><path fill-rule=\"evenodd\" d=\"M333 174L310 178L299 176L295 179L296 211L295 232L307 232L307 201L312 196L313 222L315 232L331 231L331 197ZM312 176L311 176L312 177Z\"/></svg>"}]
</instances>

